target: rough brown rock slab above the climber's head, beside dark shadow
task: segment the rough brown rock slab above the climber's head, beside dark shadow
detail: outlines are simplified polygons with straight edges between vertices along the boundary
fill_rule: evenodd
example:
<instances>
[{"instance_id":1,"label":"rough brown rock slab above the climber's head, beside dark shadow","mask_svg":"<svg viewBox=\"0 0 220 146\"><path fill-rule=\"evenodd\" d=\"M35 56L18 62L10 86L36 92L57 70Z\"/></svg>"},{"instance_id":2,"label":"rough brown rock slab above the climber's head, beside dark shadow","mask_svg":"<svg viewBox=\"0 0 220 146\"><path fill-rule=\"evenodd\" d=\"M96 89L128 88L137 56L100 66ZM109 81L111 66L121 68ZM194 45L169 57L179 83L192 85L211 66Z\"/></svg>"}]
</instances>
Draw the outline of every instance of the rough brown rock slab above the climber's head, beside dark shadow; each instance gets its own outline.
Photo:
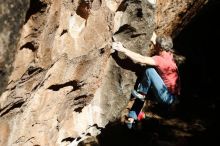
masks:
<instances>
[{"instance_id":1,"label":"rough brown rock slab above the climber's head, beside dark shadow","mask_svg":"<svg viewBox=\"0 0 220 146\"><path fill-rule=\"evenodd\" d=\"M208 0L157 0L156 32L176 37Z\"/></svg>"}]
</instances>

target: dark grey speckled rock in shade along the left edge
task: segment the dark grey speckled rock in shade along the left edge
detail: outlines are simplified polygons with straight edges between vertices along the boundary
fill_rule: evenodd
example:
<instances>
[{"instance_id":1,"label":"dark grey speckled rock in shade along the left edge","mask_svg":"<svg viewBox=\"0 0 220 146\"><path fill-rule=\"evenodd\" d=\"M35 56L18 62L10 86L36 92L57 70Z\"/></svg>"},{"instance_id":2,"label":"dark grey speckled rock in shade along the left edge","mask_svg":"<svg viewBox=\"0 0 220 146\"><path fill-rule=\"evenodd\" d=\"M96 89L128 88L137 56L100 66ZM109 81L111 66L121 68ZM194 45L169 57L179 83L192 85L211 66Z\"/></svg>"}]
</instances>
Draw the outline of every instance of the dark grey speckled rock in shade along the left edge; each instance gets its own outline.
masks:
<instances>
[{"instance_id":1,"label":"dark grey speckled rock in shade along the left edge","mask_svg":"<svg viewBox=\"0 0 220 146\"><path fill-rule=\"evenodd\" d=\"M29 0L0 0L0 95L12 71L19 31L28 7Z\"/></svg>"}]
</instances>

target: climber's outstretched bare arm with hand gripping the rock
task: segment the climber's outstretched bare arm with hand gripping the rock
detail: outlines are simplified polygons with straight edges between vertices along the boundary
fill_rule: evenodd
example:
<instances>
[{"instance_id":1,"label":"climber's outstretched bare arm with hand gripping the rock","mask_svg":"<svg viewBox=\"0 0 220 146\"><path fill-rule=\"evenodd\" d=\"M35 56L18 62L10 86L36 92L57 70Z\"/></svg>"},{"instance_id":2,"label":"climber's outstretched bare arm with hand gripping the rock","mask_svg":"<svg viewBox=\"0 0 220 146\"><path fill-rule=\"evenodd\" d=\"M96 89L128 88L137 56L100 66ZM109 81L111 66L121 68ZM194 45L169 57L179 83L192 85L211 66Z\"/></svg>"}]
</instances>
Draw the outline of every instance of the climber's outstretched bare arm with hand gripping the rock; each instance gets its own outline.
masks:
<instances>
[{"instance_id":1,"label":"climber's outstretched bare arm with hand gripping the rock","mask_svg":"<svg viewBox=\"0 0 220 146\"><path fill-rule=\"evenodd\" d=\"M131 58L133 61L138 62L140 64L146 64L146 65L151 65L151 66L156 65L156 63L152 57L143 56L143 55L140 55L140 54L135 53L133 51L130 51L130 50L124 48L120 42L113 42L112 48L114 50L123 52L125 55L127 55L129 58Z\"/></svg>"}]
</instances>

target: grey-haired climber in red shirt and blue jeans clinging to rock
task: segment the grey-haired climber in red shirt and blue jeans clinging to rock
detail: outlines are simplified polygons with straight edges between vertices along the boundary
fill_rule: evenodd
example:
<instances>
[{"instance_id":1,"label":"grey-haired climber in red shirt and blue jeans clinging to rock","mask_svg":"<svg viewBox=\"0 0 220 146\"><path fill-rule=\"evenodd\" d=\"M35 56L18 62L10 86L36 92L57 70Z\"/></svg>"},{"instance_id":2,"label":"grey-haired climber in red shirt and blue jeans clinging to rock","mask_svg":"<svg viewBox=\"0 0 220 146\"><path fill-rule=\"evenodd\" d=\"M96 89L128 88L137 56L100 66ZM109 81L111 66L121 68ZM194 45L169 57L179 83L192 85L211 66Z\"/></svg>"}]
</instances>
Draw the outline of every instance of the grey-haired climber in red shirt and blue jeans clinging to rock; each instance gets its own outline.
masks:
<instances>
[{"instance_id":1,"label":"grey-haired climber in red shirt and blue jeans clinging to rock","mask_svg":"<svg viewBox=\"0 0 220 146\"><path fill-rule=\"evenodd\" d=\"M151 41L154 44L153 56L142 56L123 47L120 42L113 42L112 48L123 52L133 61L145 65L142 81L136 90L131 92L132 96L144 102L149 90L152 90L156 99L166 105L171 105L180 94L180 82L177 64L174 60L173 41L170 36L156 36L153 33ZM130 110L127 126L132 128L138 119L140 110Z\"/></svg>"}]
</instances>

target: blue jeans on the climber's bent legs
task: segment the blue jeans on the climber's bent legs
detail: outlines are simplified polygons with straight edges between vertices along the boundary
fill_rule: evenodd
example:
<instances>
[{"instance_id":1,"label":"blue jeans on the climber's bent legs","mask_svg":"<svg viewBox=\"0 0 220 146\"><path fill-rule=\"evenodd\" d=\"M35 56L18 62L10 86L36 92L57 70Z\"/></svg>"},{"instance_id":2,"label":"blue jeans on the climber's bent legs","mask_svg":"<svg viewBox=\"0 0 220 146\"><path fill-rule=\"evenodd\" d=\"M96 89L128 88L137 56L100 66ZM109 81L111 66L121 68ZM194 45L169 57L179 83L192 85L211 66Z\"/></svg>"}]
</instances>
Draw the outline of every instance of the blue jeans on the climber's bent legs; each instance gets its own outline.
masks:
<instances>
[{"instance_id":1,"label":"blue jeans on the climber's bent legs","mask_svg":"<svg viewBox=\"0 0 220 146\"><path fill-rule=\"evenodd\" d=\"M175 100L175 96L168 91L164 81L154 68L145 70L143 79L138 84L137 92L147 94L150 88L159 102L172 104Z\"/></svg>"}]
</instances>

